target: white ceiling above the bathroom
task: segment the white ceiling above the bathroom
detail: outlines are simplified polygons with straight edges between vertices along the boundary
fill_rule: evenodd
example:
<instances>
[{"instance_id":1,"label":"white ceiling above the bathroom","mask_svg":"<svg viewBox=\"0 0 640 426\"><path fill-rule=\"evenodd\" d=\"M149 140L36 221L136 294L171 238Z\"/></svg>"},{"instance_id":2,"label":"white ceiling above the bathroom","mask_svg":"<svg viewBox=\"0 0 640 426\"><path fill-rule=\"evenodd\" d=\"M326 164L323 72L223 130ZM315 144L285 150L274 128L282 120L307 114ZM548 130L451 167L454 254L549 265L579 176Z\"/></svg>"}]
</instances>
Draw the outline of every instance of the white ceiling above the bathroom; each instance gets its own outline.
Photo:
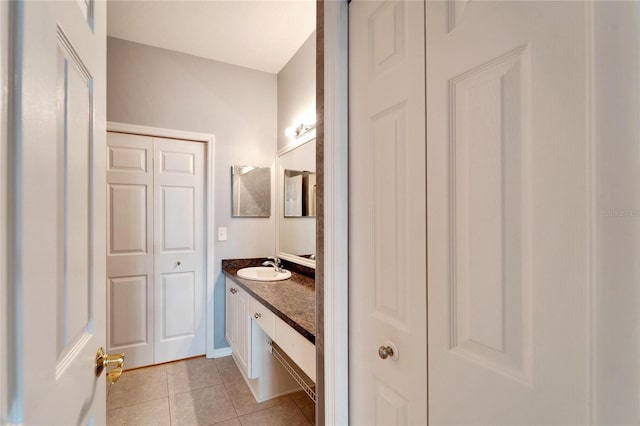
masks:
<instances>
[{"instance_id":1,"label":"white ceiling above the bathroom","mask_svg":"<svg viewBox=\"0 0 640 426\"><path fill-rule=\"evenodd\" d=\"M316 27L315 0L107 3L109 36L278 73Z\"/></svg>"}]
</instances>

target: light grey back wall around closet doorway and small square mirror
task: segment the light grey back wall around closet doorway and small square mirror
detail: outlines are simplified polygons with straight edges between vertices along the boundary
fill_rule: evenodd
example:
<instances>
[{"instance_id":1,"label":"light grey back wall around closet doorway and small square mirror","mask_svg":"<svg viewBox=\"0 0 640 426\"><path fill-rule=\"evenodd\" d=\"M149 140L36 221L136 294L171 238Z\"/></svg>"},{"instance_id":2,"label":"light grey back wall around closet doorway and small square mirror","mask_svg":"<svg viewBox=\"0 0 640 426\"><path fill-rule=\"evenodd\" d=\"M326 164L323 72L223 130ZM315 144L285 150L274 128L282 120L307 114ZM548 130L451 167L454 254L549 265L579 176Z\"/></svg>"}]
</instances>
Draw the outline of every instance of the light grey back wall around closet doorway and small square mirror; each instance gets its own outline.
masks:
<instances>
[{"instance_id":1,"label":"light grey back wall around closet doorway and small square mirror","mask_svg":"<svg viewBox=\"0 0 640 426\"><path fill-rule=\"evenodd\" d=\"M107 120L215 135L215 347L224 339L222 259L275 252L274 204L267 219L231 217L231 166L273 167L277 78L171 50L109 37ZM272 191L272 194L275 191Z\"/></svg>"}]
</instances>

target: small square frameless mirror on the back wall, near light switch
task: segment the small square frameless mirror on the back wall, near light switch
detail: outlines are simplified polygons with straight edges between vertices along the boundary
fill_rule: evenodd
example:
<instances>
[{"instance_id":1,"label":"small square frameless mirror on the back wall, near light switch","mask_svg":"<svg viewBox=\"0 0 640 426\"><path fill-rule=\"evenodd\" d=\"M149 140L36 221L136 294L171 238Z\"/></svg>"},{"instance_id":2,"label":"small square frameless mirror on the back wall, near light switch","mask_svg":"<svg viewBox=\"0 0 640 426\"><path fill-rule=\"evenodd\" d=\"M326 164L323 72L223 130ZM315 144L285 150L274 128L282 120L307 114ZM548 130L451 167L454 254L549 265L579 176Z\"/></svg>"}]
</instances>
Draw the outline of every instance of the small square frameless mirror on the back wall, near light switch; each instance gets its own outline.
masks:
<instances>
[{"instance_id":1,"label":"small square frameless mirror on the back wall, near light switch","mask_svg":"<svg viewBox=\"0 0 640 426\"><path fill-rule=\"evenodd\" d=\"M271 167L231 166L233 217L271 216Z\"/></svg>"}]
</instances>

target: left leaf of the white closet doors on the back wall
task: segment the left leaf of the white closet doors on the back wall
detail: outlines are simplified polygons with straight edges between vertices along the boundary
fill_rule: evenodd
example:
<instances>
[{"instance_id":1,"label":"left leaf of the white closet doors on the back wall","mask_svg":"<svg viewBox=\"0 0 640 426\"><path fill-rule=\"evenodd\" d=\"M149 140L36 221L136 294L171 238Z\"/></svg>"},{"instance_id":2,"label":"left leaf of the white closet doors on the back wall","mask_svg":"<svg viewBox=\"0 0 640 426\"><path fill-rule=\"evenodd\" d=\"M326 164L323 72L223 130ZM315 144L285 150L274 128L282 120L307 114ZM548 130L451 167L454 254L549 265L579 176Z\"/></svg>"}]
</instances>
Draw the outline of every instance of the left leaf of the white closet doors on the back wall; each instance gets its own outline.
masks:
<instances>
[{"instance_id":1,"label":"left leaf of the white closet doors on the back wall","mask_svg":"<svg viewBox=\"0 0 640 426\"><path fill-rule=\"evenodd\" d=\"M127 368L153 364L153 139L107 133L107 336Z\"/></svg>"}]
</instances>

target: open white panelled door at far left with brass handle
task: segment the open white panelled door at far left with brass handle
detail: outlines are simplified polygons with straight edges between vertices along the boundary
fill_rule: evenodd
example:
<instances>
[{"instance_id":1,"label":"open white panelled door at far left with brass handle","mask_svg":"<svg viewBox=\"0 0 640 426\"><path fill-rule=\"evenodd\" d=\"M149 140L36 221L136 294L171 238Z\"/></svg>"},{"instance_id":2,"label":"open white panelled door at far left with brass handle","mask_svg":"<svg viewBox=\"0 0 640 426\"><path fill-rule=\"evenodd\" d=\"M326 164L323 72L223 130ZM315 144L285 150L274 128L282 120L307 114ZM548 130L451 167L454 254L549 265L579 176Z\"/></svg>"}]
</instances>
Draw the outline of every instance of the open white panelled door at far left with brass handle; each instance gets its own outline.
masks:
<instances>
[{"instance_id":1,"label":"open white panelled door at far left with brass handle","mask_svg":"<svg viewBox=\"0 0 640 426\"><path fill-rule=\"evenodd\" d=\"M11 14L8 421L104 424L106 3Z\"/></svg>"}]
</instances>

